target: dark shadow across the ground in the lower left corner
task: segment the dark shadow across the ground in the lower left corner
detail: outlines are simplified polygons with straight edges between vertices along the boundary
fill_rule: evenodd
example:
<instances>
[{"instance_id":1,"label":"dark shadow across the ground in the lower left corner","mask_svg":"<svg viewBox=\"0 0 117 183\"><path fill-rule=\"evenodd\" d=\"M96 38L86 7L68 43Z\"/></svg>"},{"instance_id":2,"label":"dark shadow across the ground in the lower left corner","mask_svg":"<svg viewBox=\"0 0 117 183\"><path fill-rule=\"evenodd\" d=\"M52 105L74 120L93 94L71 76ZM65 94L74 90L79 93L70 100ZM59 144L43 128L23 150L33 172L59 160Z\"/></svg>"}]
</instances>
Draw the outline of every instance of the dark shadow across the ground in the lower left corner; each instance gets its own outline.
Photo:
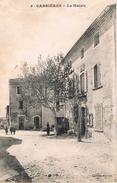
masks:
<instances>
[{"instance_id":1,"label":"dark shadow across the ground in the lower left corner","mask_svg":"<svg viewBox=\"0 0 117 183\"><path fill-rule=\"evenodd\" d=\"M11 137L0 137L0 162L2 162L2 169L5 169L5 173L9 173L9 170L16 171L16 175L7 178L5 182L31 182L32 179L25 172L24 168L15 156L10 155L7 149L15 144L21 144L22 140ZM0 165L1 165L0 164Z\"/></svg>"}]
</instances>

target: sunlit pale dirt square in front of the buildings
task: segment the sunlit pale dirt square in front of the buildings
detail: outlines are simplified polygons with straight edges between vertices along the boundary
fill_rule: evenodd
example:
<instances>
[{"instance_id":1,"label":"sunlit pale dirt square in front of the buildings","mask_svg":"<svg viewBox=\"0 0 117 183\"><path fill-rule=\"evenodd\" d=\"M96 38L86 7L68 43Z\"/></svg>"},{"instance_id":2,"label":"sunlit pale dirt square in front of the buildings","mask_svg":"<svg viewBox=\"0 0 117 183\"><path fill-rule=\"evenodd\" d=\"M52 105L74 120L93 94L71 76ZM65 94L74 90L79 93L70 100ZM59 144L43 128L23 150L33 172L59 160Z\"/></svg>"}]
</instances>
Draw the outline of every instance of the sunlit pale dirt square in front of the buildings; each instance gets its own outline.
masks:
<instances>
[{"instance_id":1,"label":"sunlit pale dirt square in front of the buildings","mask_svg":"<svg viewBox=\"0 0 117 183\"><path fill-rule=\"evenodd\" d=\"M4 131L0 131L0 136L6 137ZM12 137L22 140L8 148L12 161L16 157L14 166L20 167L20 172L13 166L10 170L5 169L7 176L0 171L1 183L3 178L4 181L7 178L7 182L22 180L35 183L116 182L113 176L113 148L101 133L95 133L93 138L83 139L82 142L77 142L76 137L46 136L45 132L39 131L17 131ZM3 170L3 164L0 166Z\"/></svg>"}]
</instances>

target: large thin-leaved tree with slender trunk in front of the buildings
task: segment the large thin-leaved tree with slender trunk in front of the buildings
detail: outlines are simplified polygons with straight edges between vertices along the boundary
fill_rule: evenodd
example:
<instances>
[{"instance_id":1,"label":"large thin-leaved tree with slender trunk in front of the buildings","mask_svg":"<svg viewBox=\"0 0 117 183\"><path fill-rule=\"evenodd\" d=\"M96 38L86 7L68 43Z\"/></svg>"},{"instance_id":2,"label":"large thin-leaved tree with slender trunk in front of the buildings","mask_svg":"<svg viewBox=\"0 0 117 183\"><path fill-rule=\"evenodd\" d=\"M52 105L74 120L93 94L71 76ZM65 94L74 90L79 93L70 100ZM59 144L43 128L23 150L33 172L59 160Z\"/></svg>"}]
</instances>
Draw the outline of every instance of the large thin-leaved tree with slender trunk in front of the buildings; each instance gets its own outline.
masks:
<instances>
[{"instance_id":1,"label":"large thin-leaved tree with slender trunk in front of the buildings","mask_svg":"<svg viewBox=\"0 0 117 183\"><path fill-rule=\"evenodd\" d=\"M29 67L27 63L22 66L23 97L26 99L27 93L30 93L28 103L40 103L53 111L56 134L56 111L59 110L60 99L65 101L67 98L66 83L71 73L71 63L64 63L62 54L48 57L45 62L40 57L38 64L33 67Z\"/></svg>"}]
</instances>

